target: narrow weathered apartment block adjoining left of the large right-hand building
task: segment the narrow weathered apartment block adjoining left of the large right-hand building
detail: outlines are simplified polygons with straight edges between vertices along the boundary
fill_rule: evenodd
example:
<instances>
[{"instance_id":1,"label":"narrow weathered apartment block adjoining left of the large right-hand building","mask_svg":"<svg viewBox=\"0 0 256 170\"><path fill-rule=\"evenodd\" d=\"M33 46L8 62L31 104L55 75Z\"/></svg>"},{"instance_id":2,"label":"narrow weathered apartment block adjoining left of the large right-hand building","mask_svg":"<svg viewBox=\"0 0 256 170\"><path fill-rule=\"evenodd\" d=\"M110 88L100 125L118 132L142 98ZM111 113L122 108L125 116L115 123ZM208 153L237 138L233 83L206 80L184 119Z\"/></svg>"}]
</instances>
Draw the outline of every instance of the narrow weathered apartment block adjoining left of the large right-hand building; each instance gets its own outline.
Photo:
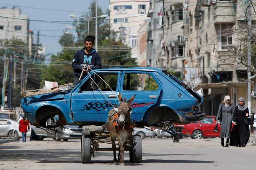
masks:
<instances>
[{"instance_id":1,"label":"narrow weathered apartment block adjoining left of the large right-hand building","mask_svg":"<svg viewBox=\"0 0 256 170\"><path fill-rule=\"evenodd\" d=\"M164 1L165 66L175 72L183 71L185 37L183 0Z\"/></svg>"}]
</instances>

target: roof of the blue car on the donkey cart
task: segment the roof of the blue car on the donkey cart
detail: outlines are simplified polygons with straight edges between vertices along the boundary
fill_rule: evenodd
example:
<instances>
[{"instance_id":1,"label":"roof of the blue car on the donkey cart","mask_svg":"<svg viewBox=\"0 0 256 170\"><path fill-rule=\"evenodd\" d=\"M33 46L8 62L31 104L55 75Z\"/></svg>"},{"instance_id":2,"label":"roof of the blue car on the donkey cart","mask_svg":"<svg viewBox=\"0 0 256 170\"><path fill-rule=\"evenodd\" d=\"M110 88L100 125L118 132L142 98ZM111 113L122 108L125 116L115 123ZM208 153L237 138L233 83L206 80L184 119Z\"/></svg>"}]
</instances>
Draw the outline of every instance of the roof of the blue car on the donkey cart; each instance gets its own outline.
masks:
<instances>
[{"instance_id":1,"label":"roof of the blue car on the donkey cart","mask_svg":"<svg viewBox=\"0 0 256 170\"><path fill-rule=\"evenodd\" d=\"M97 69L94 71L154 71L154 72L161 72L162 70L165 70L163 68L154 68L154 67L132 67L132 68L102 68Z\"/></svg>"}]
</instances>

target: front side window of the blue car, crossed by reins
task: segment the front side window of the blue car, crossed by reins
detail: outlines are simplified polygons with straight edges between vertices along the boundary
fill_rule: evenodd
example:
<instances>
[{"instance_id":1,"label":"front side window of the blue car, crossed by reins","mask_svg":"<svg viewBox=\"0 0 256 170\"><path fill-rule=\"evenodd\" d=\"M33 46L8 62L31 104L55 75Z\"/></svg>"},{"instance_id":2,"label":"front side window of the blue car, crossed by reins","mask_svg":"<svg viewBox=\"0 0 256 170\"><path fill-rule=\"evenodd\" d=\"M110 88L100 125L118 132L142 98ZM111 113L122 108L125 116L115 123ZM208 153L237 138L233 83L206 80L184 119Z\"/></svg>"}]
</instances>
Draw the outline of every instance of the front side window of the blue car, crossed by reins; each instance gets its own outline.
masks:
<instances>
[{"instance_id":1,"label":"front side window of the blue car, crossed by reins","mask_svg":"<svg viewBox=\"0 0 256 170\"><path fill-rule=\"evenodd\" d=\"M93 74L91 77L93 81L89 78L81 87L81 91L100 91L100 89L102 91L111 91L111 89L116 91L118 73L97 73L97 75ZM102 79L110 86L111 89Z\"/></svg>"}]
</instances>

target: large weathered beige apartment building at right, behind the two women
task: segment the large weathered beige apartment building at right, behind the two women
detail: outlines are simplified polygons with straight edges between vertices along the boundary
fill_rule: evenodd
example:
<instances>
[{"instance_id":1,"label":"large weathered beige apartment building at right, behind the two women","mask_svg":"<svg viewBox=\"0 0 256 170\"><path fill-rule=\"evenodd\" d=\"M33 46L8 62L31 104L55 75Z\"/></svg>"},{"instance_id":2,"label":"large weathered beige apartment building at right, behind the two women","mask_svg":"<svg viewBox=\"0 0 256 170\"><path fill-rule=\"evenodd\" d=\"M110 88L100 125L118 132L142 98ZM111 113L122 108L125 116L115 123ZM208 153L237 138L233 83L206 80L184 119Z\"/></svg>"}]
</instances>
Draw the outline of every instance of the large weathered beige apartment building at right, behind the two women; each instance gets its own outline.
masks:
<instances>
[{"instance_id":1,"label":"large weathered beige apartment building at right, behind the two women","mask_svg":"<svg viewBox=\"0 0 256 170\"><path fill-rule=\"evenodd\" d=\"M238 61L236 50L246 36L244 1L184 0L183 13L183 81L203 90L202 111L216 115L225 95L235 104L239 97L247 100L247 68ZM251 100L251 110L255 109L256 101Z\"/></svg>"}]
</instances>

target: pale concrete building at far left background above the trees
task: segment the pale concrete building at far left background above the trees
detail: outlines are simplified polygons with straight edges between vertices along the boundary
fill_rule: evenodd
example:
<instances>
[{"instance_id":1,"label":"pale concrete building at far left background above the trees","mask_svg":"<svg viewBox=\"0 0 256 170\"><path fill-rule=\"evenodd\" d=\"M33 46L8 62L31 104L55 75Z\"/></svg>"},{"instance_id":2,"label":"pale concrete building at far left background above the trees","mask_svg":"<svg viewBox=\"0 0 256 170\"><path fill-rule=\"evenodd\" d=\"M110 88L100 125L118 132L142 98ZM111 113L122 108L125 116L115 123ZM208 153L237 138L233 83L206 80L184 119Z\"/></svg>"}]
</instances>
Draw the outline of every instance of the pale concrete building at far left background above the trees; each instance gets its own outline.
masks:
<instances>
[{"instance_id":1,"label":"pale concrete building at far left background above the trees","mask_svg":"<svg viewBox=\"0 0 256 170\"><path fill-rule=\"evenodd\" d=\"M21 9L15 6L12 9L1 7L0 16L0 39L16 38L24 42L28 41L28 16L21 14Z\"/></svg>"}]
</instances>

